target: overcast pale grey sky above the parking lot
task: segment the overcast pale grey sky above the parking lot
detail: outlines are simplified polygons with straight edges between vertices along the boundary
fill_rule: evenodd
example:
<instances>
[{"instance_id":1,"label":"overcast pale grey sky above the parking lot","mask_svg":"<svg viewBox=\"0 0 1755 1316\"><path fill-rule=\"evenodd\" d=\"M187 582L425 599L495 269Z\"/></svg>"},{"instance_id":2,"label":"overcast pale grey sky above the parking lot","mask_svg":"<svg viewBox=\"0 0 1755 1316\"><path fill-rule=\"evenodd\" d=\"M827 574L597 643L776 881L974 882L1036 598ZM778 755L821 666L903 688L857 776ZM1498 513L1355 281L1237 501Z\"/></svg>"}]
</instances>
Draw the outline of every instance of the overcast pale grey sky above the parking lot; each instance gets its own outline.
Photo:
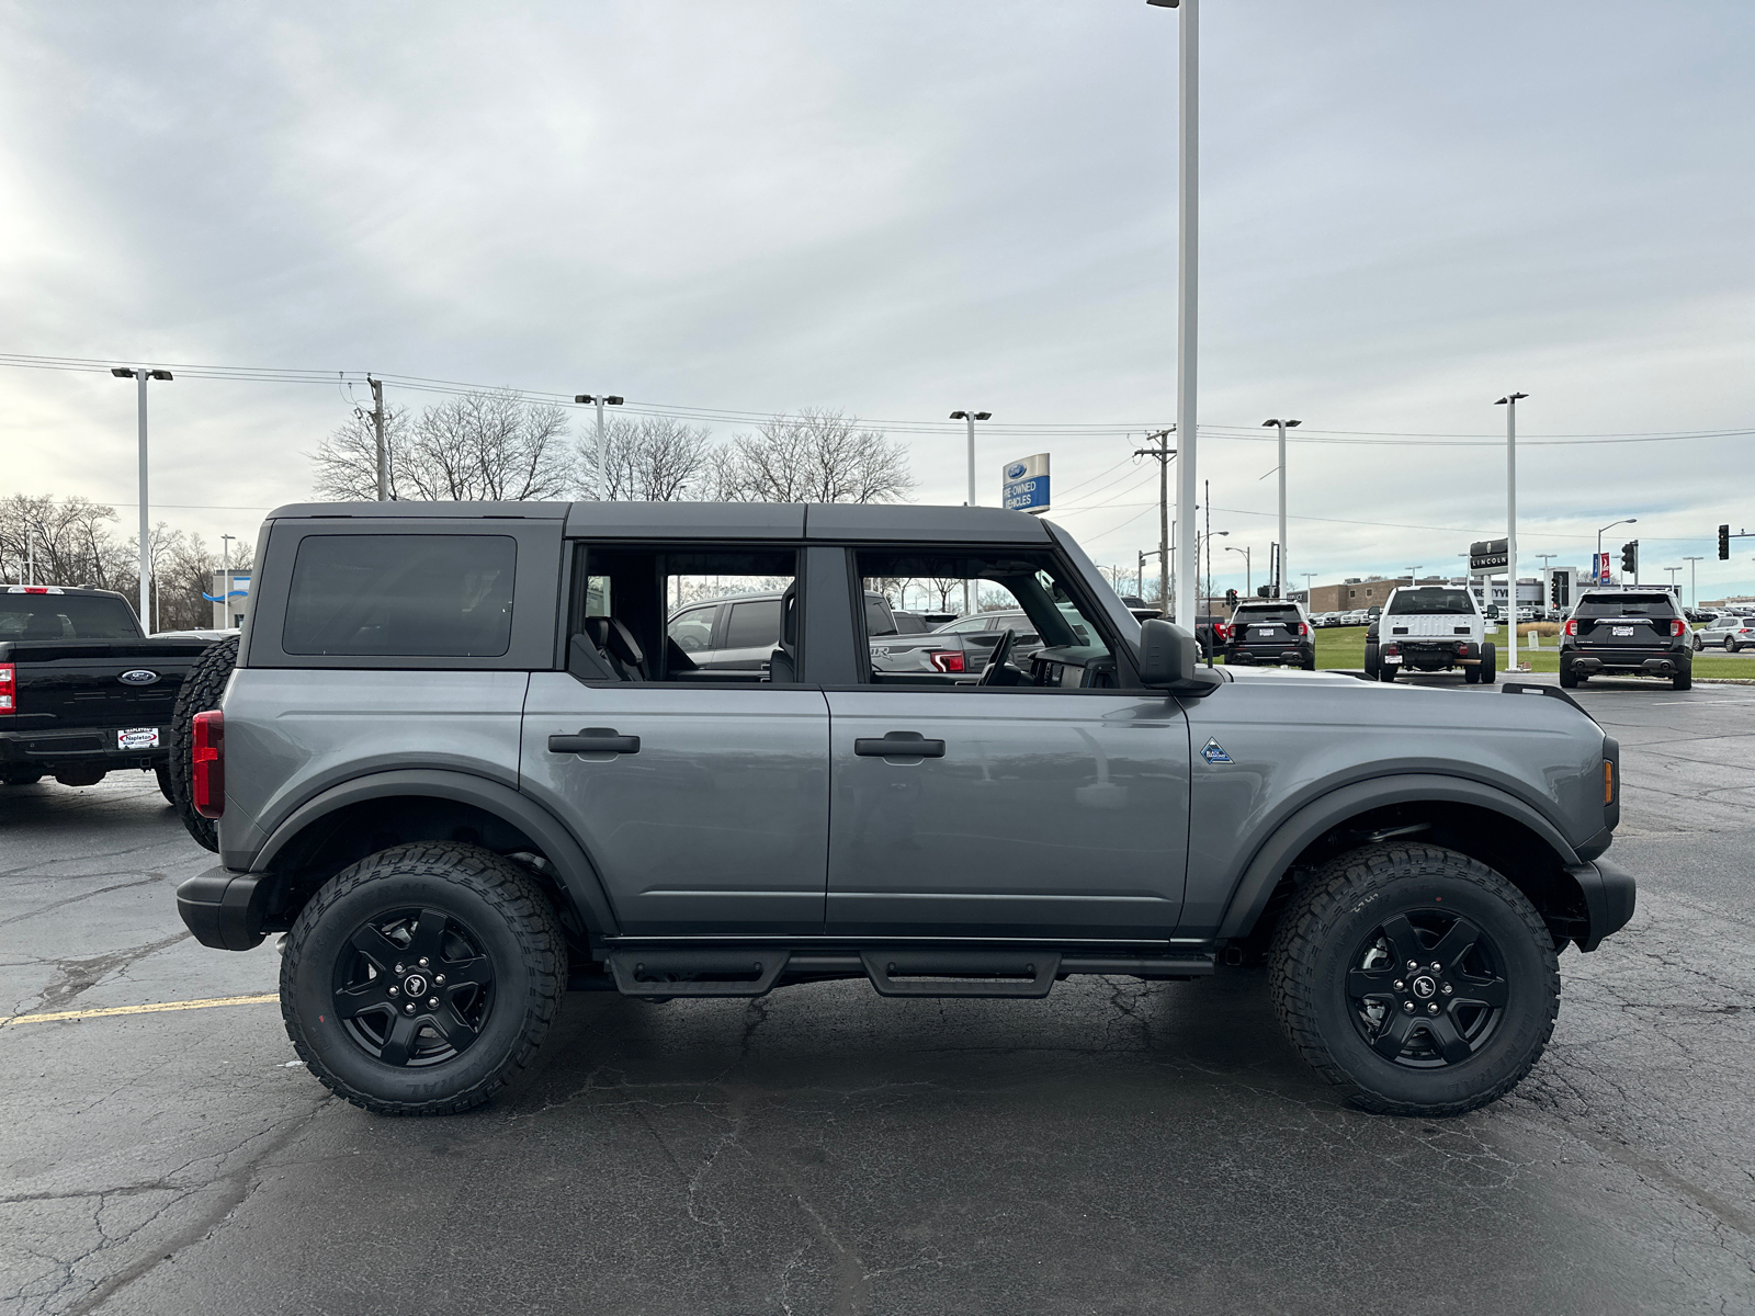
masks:
<instances>
[{"instance_id":1,"label":"overcast pale grey sky above the parking lot","mask_svg":"<svg viewBox=\"0 0 1755 1316\"><path fill-rule=\"evenodd\" d=\"M981 407L981 502L1049 449L1055 519L1132 563L1157 481L1118 463L1174 418L1176 25L1143 0L4 4L0 351ZM1755 530L1751 433L1536 442L1755 430L1751 68L1748 0L1204 0L1200 421L1304 419L1295 576L1504 533L1502 444L1422 435L1502 435L1523 390L1530 567L1637 516L1648 577L1697 553L1702 597L1755 588L1755 540L1713 546ZM351 405L154 384L158 516L253 535ZM107 374L0 368L0 493L132 523L133 425ZM962 502L960 426L893 432L916 497ZM1258 569L1272 465L1202 437L1213 526Z\"/></svg>"}]
</instances>

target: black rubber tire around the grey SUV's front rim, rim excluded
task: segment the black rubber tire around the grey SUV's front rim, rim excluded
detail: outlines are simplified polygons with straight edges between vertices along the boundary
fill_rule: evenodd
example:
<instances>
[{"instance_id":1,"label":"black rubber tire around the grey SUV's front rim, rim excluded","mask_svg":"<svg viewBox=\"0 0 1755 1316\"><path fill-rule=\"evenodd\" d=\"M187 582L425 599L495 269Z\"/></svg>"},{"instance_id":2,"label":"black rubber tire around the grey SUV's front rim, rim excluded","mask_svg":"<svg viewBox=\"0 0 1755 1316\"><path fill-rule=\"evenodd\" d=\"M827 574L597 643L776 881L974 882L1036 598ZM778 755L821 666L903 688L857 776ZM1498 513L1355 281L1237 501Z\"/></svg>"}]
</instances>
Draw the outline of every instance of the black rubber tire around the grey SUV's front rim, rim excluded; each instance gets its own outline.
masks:
<instances>
[{"instance_id":1,"label":"black rubber tire around the grey SUV's front rim, rim excluded","mask_svg":"<svg viewBox=\"0 0 1755 1316\"><path fill-rule=\"evenodd\" d=\"M1504 962L1506 1005L1474 1055L1409 1069L1378 1055L1346 995L1353 948L1397 912L1471 919ZM1450 1116L1511 1091L1541 1058L1560 1009L1553 937L1529 898L1485 863L1439 846L1365 846L1293 897L1269 953L1274 1014L1343 1097L1379 1114Z\"/></svg>"}]
</instances>

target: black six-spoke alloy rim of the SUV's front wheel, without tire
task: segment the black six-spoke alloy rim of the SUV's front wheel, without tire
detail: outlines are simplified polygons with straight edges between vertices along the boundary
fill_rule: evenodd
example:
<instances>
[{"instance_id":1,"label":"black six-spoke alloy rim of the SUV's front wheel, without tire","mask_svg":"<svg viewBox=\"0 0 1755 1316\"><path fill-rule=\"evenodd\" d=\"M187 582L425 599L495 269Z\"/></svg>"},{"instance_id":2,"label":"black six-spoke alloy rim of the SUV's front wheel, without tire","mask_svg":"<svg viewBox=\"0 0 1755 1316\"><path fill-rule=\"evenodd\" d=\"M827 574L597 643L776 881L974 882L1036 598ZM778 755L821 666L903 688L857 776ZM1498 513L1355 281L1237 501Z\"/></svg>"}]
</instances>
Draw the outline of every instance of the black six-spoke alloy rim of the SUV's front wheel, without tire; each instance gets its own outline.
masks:
<instances>
[{"instance_id":1,"label":"black six-spoke alloy rim of the SUV's front wheel, without tire","mask_svg":"<svg viewBox=\"0 0 1755 1316\"><path fill-rule=\"evenodd\" d=\"M1397 1065L1460 1065L1492 1037L1508 1004L1499 962L1479 926L1443 907L1392 914L1353 951L1353 1023Z\"/></svg>"}]
</instances>

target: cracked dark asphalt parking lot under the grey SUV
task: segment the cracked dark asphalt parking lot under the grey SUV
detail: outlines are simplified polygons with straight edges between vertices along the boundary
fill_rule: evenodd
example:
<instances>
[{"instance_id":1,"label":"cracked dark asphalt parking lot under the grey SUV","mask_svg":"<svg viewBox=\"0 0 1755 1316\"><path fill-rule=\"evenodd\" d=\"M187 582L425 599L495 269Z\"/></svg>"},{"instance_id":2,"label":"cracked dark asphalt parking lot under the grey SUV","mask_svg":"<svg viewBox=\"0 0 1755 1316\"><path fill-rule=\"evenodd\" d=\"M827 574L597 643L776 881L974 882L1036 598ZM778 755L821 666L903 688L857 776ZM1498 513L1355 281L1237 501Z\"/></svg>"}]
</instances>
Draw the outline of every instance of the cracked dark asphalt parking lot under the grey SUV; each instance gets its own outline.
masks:
<instances>
[{"instance_id":1,"label":"cracked dark asphalt parking lot under the grey SUV","mask_svg":"<svg viewBox=\"0 0 1755 1316\"><path fill-rule=\"evenodd\" d=\"M1530 1079L1450 1121L1337 1105L1241 970L581 993L495 1105L374 1118L272 1002L86 1014L272 993L274 946L184 933L211 858L151 777L7 788L0 1309L1755 1309L1755 686L1578 693L1639 911L1562 956Z\"/></svg>"}]
</instances>

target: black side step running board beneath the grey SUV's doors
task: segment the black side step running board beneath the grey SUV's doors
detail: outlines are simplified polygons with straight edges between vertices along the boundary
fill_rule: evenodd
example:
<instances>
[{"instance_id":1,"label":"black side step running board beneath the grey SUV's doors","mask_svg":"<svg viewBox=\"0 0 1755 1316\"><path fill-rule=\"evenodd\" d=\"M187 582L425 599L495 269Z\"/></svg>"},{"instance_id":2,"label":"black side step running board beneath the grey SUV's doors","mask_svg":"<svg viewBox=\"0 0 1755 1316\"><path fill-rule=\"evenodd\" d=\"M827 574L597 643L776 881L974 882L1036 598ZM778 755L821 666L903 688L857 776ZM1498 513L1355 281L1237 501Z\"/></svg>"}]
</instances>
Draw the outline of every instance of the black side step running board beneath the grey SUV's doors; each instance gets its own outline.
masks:
<instances>
[{"instance_id":1,"label":"black side step running board beneath the grey SUV's doors","mask_svg":"<svg viewBox=\"0 0 1755 1316\"><path fill-rule=\"evenodd\" d=\"M1046 997L1069 974L1174 981L1207 977L1209 951L1114 956L1049 949L691 949L611 951L628 997L760 997L786 979L867 977L885 997Z\"/></svg>"}]
</instances>

